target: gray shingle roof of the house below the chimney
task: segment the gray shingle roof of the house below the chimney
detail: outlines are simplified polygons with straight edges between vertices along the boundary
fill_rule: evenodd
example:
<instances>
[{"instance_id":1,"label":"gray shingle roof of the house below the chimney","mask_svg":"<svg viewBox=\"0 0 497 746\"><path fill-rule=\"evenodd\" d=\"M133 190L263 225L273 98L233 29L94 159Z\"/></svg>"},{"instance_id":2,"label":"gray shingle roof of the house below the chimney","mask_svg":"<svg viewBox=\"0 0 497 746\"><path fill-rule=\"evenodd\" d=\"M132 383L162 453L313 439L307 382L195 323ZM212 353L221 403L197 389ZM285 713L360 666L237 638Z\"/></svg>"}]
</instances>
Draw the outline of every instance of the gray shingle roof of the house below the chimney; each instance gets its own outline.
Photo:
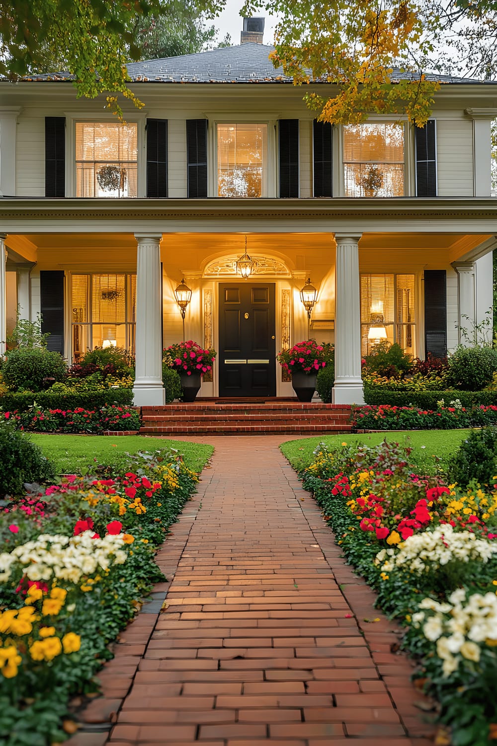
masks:
<instances>
[{"instance_id":1,"label":"gray shingle roof of the house below the chimney","mask_svg":"<svg viewBox=\"0 0 497 746\"><path fill-rule=\"evenodd\" d=\"M273 67L269 55L273 46L256 43L223 47L162 60L145 60L127 65L131 81L135 83L291 83L281 67ZM497 81L478 81L457 75L427 74L427 80L452 84L496 84ZM31 75L25 81L72 81L69 72ZM393 81L417 80L410 72L395 69ZM323 82L323 81L315 81Z\"/></svg>"}]
</instances>

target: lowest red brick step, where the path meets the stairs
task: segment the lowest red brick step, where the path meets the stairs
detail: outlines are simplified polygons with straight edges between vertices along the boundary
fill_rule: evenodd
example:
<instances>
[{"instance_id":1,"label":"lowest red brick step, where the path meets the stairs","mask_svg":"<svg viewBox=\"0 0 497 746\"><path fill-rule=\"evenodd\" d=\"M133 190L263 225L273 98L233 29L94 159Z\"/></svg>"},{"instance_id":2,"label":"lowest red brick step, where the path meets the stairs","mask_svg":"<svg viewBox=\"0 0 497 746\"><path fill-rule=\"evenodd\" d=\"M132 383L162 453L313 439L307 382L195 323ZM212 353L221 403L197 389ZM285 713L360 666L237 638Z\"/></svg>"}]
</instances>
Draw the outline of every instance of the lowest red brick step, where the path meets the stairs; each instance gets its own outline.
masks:
<instances>
[{"instance_id":1,"label":"lowest red brick step, where the path meets the stairs","mask_svg":"<svg viewBox=\"0 0 497 746\"><path fill-rule=\"evenodd\" d=\"M262 435L264 433L276 434L301 434L311 433L313 435L320 435L324 433L349 433L351 430L350 425L346 424L329 424L327 422L321 422L316 424L244 424L244 425L189 425L189 424L177 424L177 425L164 425L164 426L151 426L146 425L140 429L140 435L152 434L152 433L164 433L176 435L202 435L203 433L212 435L236 435L243 433L244 435Z\"/></svg>"}]
</instances>

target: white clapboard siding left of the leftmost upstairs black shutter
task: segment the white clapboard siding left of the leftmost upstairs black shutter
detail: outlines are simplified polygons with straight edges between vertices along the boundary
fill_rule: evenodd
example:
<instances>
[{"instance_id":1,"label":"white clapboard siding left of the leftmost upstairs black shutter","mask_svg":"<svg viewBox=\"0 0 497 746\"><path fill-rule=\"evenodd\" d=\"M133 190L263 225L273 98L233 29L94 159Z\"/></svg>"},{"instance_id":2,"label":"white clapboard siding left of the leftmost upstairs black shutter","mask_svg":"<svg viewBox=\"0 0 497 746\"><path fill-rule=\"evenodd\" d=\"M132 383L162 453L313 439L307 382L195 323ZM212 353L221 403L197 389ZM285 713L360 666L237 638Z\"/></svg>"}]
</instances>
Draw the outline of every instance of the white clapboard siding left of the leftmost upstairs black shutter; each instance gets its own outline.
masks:
<instances>
[{"instance_id":1,"label":"white clapboard siding left of the leftmost upstairs black shutter","mask_svg":"<svg viewBox=\"0 0 497 746\"><path fill-rule=\"evenodd\" d=\"M16 196L45 196L45 118L19 116L16 131Z\"/></svg>"}]
</instances>

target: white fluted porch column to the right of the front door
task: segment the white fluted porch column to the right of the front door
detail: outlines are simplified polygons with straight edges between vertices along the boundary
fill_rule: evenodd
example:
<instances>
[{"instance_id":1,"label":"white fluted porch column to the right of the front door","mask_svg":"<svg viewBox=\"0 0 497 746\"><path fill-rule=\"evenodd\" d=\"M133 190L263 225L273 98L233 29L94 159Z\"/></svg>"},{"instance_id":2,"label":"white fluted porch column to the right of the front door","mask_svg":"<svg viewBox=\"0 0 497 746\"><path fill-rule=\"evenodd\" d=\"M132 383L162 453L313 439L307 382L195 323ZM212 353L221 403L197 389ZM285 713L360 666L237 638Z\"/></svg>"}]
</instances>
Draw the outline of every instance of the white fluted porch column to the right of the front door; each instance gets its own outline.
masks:
<instances>
[{"instance_id":1,"label":"white fluted porch column to the right of the front door","mask_svg":"<svg viewBox=\"0 0 497 746\"><path fill-rule=\"evenodd\" d=\"M359 239L335 234L335 386L333 404L364 404L361 379Z\"/></svg>"}]
</instances>

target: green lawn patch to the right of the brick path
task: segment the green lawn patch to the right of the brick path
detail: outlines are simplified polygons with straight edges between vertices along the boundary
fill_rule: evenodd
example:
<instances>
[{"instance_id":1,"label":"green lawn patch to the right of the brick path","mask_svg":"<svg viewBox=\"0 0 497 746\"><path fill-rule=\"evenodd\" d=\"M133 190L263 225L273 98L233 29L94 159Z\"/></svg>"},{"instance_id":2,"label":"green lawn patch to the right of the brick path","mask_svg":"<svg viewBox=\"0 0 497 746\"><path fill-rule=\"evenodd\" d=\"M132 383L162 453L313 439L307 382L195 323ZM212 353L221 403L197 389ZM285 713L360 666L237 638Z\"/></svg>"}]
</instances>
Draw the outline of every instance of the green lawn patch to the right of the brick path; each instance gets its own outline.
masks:
<instances>
[{"instance_id":1,"label":"green lawn patch to the right of the brick path","mask_svg":"<svg viewBox=\"0 0 497 746\"><path fill-rule=\"evenodd\" d=\"M327 435L302 440L289 440L280 446L283 455L288 458L291 466L300 471L314 460L312 452L319 443L326 443L330 448L336 448L342 443L347 445L364 443L378 445L384 439L387 441L408 445L413 448L411 460L423 474L434 474L439 466L446 466L447 458L452 455L460 443L469 435L471 430L405 430L402 433L368 433L365 435ZM437 462L437 458L440 462Z\"/></svg>"}]
</instances>

